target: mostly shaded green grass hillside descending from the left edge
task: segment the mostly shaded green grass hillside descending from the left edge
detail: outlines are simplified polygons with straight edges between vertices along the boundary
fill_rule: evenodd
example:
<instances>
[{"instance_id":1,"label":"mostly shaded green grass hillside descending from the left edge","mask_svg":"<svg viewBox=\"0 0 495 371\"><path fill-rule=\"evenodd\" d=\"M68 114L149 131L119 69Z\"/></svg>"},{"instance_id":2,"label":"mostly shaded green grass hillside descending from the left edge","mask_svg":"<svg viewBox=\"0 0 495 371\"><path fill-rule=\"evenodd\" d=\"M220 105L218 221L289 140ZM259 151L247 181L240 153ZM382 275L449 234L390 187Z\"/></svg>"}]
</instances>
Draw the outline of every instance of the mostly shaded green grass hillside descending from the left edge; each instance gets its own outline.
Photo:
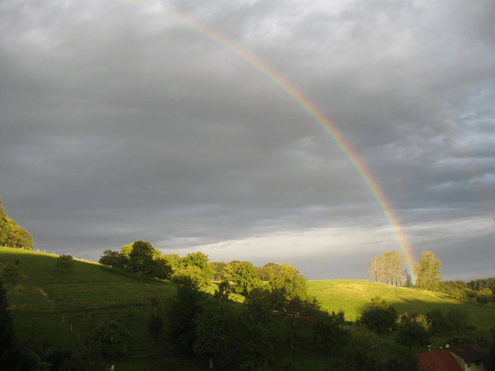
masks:
<instances>
[{"instance_id":1,"label":"mostly shaded green grass hillside descending from the left edge","mask_svg":"<svg viewBox=\"0 0 495 371\"><path fill-rule=\"evenodd\" d=\"M4 286L21 341L34 336L48 338L54 348L77 348L82 345L83 336L93 332L100 322L116 319L131 333L130 352L128 357L112 360L108 366L114 364L122 371L143 370L156 360L175 357L172 344L164 339L156 343L147 327L153 313L149 299L157 295L163 309L176 292L173 283L157 279L141 283L140 275L117 269L113 273L109 267L79 259L63 275L55 268L57 257L0 247L0 271L6 264L13 264L20 272L18 278L5 279ZM213 294L216 288L217 284L211 283L204 291ZM244 301L241 295L232 298ZM194 358L186 357L180 362L181 370L197 370Z\"/></svg>"}]
</instances>

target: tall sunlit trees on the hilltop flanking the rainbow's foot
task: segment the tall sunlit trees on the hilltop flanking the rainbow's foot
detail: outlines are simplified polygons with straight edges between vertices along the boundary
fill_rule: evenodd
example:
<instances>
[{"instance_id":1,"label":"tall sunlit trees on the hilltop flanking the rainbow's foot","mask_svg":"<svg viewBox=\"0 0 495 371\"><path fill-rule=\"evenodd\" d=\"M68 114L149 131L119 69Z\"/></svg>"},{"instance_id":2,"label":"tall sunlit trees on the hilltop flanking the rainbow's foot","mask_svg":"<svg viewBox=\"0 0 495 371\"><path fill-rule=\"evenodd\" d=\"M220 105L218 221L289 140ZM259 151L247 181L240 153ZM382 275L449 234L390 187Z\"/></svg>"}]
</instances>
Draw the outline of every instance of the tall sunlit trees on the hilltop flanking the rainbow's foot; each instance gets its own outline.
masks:
<instances>
[{"instance_id":1,"label":"tall sunlit trees on the hilltop flanking the rainbow's foot","mask_svg":"<svg viewBox=\"0 0 495 371\"><path fill-rule=\"evenodd\" d=\"M406 269L407 257L400 251L382 252L369 262L370 276L375 282L413 287L409 272ZM442 262L431 251L423 251L418 261L414 263L416 288L435 290L442 279L440 269Z\"/></svg>"}]
</instances>

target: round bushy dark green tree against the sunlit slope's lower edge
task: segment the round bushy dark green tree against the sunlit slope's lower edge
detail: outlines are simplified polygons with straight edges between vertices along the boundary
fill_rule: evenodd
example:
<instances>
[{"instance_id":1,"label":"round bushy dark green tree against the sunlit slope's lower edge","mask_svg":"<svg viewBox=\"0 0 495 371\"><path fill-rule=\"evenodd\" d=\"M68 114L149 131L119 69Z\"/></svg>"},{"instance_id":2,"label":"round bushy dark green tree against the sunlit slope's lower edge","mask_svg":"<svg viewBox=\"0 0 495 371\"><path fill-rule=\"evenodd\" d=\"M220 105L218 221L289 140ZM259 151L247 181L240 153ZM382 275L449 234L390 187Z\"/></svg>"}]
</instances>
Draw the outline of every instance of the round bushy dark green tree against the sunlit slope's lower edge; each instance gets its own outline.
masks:
<instances>
[{"instance_id":1,"label":"round bushy dark green tree against the sunlit slope's lower edge","mask_svg":"<svg viewBox=\"0 0 495 371\"><path fill-rule=\"evenodd\" d=\"M387 299L379 296L371 299L371 308L363 311L361 322L378 334L391 332L396 325L397 311Z\"/></svg>"}]
</instances>

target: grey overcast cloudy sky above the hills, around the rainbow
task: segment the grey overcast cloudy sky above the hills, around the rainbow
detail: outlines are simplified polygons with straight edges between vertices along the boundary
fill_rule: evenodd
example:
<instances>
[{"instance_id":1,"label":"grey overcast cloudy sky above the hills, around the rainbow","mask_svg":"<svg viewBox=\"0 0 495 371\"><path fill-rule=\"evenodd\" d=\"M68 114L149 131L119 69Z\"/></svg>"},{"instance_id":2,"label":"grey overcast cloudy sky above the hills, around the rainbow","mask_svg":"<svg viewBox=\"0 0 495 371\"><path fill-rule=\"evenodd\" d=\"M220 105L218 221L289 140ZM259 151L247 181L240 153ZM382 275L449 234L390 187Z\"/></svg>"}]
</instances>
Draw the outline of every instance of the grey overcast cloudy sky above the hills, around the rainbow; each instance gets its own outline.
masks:
<instances>
[{"instance_id":1,"label":"grey overcast cloudy sky above the hills, around the rainbow","mask_svg":"<svg viewBox=\"0 0 495 371\"><path fill-rule=\"evenodd\" d=\"M347 138L413 258L493 277L494 19L493 0L2 0L2 205L35 248L93 261L141 239L368 278L391 226L249 52Z\"/></svg>"}]
</instances>

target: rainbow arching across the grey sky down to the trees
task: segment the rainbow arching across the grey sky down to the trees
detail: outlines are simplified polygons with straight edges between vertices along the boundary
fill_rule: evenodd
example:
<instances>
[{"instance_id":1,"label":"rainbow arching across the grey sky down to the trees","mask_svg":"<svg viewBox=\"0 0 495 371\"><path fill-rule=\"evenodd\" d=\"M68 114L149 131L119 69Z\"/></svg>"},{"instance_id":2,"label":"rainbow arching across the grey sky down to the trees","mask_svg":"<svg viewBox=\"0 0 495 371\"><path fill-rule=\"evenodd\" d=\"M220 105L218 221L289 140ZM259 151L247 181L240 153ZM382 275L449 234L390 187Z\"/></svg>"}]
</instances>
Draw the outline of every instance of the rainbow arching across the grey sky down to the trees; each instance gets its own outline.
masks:
<instances>
[{"instance_id":1,"label":"rainbow arching across the grey sky down to the trees","mask_svg":"<svg viewBox=\"0 0 495 371\"><path fill-rule=\"evenodd\" d=\"M407 241L407 236L402 230L396 212L392 207L391 202L385 195L382 187L363 162L357 151L352 147L346 137L339 131L339 129L325 116L325 114L314 104L309 97L299 91L294 84L292 84L286 77L280 72L273 69L269 64L261 60L255 54L247 50L246 48L238 45L234 41L228 39L224 35L216 32L215 30L200 24L194 19L186 17L182 14L174 12L170 9L157 8L156 3L140 0L122 0L127 3L135 4L142 7L152 7L153 11L162 13L167 17L173 18L183 26L193 30L199 35L207 38L215 44L223 46L225 49L231 51L235 56L240 58L244 63L247 63L250 67L256 70L259 74L265 76L275 86L285 93L305 114L310 120L325 133L325 135L332 141L332 143L338 148L342 155L350 162L354 172L357 174L361 183L365 186L372 199L375 201L379 210L383 214L387 223L391 226L393 234L395 235L398 247L405 254L406 266L409 274L411 275L413 283L416 278L414 277L414 270L412 262L415 260L415 254L412 246Z\"/></svg>"}]
</instances>

